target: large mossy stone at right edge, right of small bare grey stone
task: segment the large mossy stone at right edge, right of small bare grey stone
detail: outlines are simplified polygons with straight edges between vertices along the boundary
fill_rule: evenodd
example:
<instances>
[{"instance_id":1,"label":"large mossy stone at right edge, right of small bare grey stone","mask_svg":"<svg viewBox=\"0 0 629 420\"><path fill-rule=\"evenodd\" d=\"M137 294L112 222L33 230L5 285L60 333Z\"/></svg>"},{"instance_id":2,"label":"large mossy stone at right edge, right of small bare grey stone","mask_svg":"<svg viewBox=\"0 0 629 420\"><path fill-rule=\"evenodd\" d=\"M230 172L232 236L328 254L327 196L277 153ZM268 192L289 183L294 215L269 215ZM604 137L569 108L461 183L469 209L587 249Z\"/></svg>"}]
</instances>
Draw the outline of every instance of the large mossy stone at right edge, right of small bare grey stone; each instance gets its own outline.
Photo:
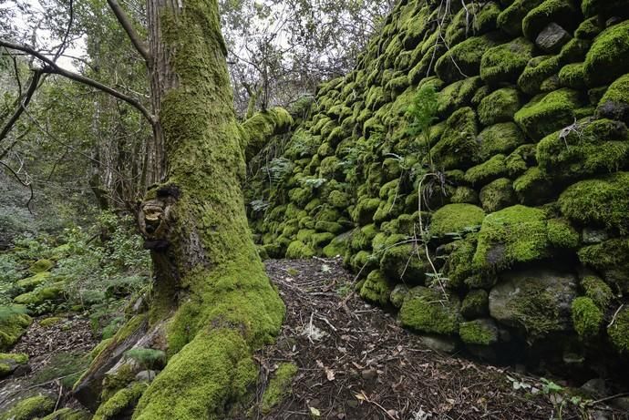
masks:
<instances>
[{"instance_id":1,"label":"large mossy stone at right edge, right of small bare grey stone","mask_svg":"<svg viewBox=\"0 0 629 420\"><path fill-rule=\"evenodd\" d=\"M594 39L585 57L585 83L598 87L629 73L629 21L611 26Z\"/></svg>"}]
</instances>

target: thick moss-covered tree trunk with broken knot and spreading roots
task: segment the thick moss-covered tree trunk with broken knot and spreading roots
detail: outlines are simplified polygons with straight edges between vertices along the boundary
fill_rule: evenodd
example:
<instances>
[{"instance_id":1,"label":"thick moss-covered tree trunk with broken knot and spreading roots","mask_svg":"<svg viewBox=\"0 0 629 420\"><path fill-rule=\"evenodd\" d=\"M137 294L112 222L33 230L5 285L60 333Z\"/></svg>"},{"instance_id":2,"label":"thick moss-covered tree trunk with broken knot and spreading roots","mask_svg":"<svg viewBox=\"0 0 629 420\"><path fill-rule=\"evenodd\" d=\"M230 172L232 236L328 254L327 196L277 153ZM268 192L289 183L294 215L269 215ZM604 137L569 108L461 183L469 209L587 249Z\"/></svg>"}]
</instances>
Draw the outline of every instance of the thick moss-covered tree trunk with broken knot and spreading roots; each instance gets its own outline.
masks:
<instances>
[{"instance_id":1,"label":"thick moss-covered tree trunk with broken knot and spreading roots","mask_svg":"<svg viewBox=\"0 0 629 420\"><path fill-rule=\"evenodd\" d=\"M98 380L98 365L110 369L108 358L123 347L163 349L168 364L134 418L225 418L255 384L251 353L279 331L284 304L247 225L240 188L247 135L232 108L217 1L149 0L148 22L164 180L142 203L139 223L155 282L148 322L114 337L86 377Z\"/></svg>"}]
</instances>

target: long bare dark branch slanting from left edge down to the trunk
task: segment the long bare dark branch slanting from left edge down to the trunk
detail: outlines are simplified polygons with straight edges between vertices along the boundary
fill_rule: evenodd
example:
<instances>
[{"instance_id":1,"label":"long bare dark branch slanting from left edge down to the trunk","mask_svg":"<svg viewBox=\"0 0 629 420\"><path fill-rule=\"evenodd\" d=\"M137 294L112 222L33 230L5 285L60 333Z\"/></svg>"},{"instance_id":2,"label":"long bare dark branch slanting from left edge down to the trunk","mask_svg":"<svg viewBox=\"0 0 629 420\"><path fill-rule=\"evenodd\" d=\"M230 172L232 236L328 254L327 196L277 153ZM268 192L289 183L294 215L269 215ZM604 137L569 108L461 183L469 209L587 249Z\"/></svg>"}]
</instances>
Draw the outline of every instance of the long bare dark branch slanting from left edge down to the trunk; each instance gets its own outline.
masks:
<instances>
[{"instance_id":1,"label":"long bare dark branch slanting from left edge down to the trunk","mask_svg":"<svg viewBox=\"0 0 629 420\"><path fill-rule=\"evenodd\" d=\"M127 102L131 107L138 109L139 112L142 113L144 118L147 118L147 120L149 120L151 126L155 125L156 118L150 114L147 108L144 108L142 104L139 103L139 100L134 99L133 97L129 97L119 92L118 90L115 90L111 87L103 85L102 83L96 80L93 80L89 77L85 77L77 73L68 71L64 68L58 67L57 63L55 63L53 60L51 60L47 56L44 56L43 54L39 53L38 51L36 51L34 48L30 46L25 46L23 44L15 44L10 41L5 41L4 39L0 39L0 46L5 46L6 48L9 48L9 49L22 51L23 53L26 53L30 56L35 56L37 59L43 61L46 64L46 66L40 70L42 73L55 74L55 75L67 77L78 83L88 85L89 87L97 88L100 91L108 93L112 97L118 97L120 100Z\"/></svg>"}]
</instances>

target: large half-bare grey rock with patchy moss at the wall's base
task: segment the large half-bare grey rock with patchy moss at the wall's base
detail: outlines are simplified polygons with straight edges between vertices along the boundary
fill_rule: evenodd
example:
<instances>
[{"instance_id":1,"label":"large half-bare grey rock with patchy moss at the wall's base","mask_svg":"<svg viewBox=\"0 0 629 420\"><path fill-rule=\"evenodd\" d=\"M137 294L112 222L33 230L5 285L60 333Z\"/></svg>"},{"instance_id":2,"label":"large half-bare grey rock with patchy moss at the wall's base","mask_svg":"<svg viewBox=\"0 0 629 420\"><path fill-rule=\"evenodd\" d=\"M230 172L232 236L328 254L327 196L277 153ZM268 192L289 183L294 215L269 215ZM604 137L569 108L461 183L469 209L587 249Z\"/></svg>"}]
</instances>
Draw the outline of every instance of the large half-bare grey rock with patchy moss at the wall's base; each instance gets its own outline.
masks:
<instances>
[{"instance_id":1,"label":"large half-bare grey rock with patchy moss at the wall's base","mask_svg":"<svg viewBox=\"0 0 629 420\"><path fill-rule=\"evenodd\" d=\"M551 269L508 271L491 289L490 314L500 323L523 328L530 338L570 331L575 274Z\"/></svg>"}]
</instances>

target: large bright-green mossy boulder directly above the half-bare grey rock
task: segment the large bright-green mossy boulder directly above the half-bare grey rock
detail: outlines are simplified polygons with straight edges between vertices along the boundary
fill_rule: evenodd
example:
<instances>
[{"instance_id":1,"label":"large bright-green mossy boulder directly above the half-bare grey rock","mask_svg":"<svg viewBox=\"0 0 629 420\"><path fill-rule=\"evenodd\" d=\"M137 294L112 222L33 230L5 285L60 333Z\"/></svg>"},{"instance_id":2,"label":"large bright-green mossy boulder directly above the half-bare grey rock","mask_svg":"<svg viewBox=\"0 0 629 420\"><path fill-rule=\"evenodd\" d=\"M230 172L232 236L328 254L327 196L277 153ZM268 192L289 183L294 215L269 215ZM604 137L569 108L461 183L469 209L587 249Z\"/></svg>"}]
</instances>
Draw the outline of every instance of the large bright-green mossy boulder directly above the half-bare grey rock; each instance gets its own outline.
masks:
<instances>
[{"instance_id":1,"label":"large bright-green mossy boulder directly above the half-bare grey rock","mask_svg":"<svg viewBox=\"0 0 629 420\"><path fill-rule=\"evenodd\" d=\"M491 213L483 220L473 267L495 271L516 262L536 261L548 256L545 213L516 205Z\"/></svg>"}]
</instances>

